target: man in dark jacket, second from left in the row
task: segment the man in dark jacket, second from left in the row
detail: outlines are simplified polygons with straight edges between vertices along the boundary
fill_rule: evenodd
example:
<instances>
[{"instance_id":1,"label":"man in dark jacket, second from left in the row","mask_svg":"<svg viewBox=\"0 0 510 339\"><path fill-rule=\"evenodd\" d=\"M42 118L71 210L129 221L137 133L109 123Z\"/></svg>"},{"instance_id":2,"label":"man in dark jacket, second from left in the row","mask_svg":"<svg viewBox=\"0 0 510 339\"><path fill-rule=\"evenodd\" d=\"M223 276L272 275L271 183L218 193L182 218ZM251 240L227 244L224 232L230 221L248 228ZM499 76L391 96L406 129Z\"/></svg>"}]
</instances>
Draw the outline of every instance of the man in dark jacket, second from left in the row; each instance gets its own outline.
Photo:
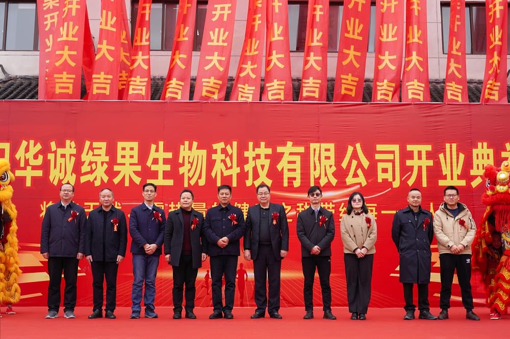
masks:
<instances>
[{"instance_id":1,"label":"man in dark jacket, second from left in the row","mask_svg":"<svg viewBox=\"0 0 510 339\"><path fill-rule=\"evenodd\" d=\"M103 318L103 283L106 280L105 318L115 319L117 272L126 256L127 223L124 212L115 208L113 191L99 192L101 206L90 211L85 233L85 258L92 268L94 308L89 319Z\"/></svg>"}]
</instances>

